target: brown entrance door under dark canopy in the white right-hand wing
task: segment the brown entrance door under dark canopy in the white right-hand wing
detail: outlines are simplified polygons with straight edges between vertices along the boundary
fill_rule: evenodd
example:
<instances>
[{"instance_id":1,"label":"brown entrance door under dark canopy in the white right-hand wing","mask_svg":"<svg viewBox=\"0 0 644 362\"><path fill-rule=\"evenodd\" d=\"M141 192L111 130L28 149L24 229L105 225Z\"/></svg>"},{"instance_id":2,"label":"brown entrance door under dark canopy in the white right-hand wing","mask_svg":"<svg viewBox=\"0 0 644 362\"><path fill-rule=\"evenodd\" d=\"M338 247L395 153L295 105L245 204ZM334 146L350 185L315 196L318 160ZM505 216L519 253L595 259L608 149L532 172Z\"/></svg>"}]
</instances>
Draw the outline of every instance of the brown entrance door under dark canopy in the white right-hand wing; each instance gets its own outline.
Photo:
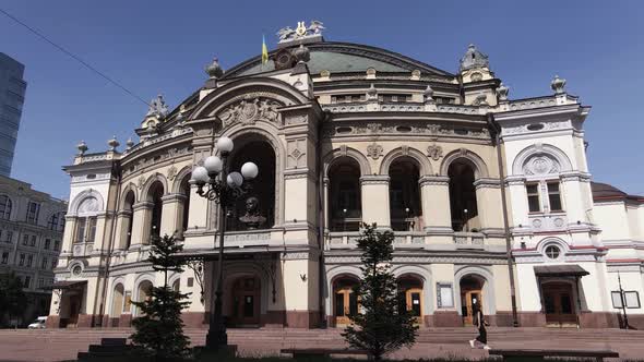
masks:
<instances>
[{"instance_id":1,"label":"brown entrance door under dark canopy in the white right-hand wing","mask_svg":"<svg viewBox=\"0 0 644 362\"><path fill-rule=\"evenodd\" d=\"M541 287L546 324L552 327L576 327L572 287L565 282L549 282Z\"/></svg>"}]
</instances>

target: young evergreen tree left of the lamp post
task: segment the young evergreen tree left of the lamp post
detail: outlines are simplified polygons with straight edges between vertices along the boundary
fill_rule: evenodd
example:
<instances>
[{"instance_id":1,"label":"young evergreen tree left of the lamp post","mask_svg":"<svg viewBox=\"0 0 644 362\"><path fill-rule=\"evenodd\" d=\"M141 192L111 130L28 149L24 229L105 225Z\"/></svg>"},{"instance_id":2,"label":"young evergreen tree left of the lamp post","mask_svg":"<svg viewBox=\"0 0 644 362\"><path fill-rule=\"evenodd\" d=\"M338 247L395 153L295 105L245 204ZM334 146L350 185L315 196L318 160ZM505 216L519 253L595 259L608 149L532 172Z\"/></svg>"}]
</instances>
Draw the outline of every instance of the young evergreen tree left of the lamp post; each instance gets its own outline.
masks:
<instances>
[{"instance_id":1,"label":"young evergreen tree left of the lamp post","mask_svg":"<svg viewBox=\"0 0 644 362\"><path fill-rule=\"evenodd\" d=\"M136 331L130 338L134 345L160 359L171 360L188 354L189 338L183 335L181 310L190 304L184 301L189 294L168 286L168 273L180 273L187 264L172 257L182 249L183 245L177 244L175 237L153 238L147 261L155 272L164 273L164 286L153 287L146 300L132 302L143 315L132 321Z\"/></svg>"}]
</instances>

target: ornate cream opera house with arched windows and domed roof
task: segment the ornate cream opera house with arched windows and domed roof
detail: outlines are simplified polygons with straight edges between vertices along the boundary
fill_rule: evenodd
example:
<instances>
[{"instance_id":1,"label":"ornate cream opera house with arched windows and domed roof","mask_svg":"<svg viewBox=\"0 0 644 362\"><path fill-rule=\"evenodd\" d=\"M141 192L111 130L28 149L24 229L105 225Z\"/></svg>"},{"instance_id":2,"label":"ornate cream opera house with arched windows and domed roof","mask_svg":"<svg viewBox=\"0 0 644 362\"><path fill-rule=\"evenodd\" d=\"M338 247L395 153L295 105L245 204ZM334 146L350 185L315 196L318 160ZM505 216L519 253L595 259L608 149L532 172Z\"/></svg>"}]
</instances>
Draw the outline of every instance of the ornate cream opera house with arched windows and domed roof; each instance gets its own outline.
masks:
<instances>
[{"instance_id":1,"label":"ornate cream opera house with arched windows and domed roof","mask_svg":"<svg viewBox=\"0 0 644 362\"><path fill-rule=\"evenodd\" d=\"M556 77L552 94L510 99L469 46L456 73L389 50L326 41L323 27L279 32L255 57L210 79L170 110L159 96L138 143L73 165L49 326L129 326L162 282L151 237L175 234L191 267L183 317L207 323L218 241L215 203L191 170L235 143L231 170L259 166L250 197L227 213L224 312L229 326L336 327L359 309L361 222L395 233L393 273L421 326L472 324L473 302L499 326L617 326L617 272L641 294L644 203L601 201L584 143L589 107ZM623 210L623 215L605 207ZM621 213L621 212L620 212ZM628 214L628 215L627 215ZM624 227L615 228L613 218ZM255 219L257 220L257 219ZM612 230L612 229L611 229ZM630 297L633 299L632 294ZM631 309L631 324L644 310Z\"/></svg>"}]
</instances>

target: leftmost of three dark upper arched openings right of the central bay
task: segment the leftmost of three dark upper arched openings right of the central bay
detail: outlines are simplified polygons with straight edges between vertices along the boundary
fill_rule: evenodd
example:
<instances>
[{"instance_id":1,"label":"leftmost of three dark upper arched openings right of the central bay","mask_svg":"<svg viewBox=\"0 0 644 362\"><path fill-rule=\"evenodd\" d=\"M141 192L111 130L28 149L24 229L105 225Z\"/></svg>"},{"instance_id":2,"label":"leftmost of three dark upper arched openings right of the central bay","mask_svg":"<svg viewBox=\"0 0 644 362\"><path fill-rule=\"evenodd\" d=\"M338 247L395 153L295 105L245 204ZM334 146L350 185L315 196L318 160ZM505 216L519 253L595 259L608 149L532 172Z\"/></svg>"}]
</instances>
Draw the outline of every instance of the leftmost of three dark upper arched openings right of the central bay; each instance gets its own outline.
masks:
<instances>
[{"instance_id":1,"label":"leftmost of three dark upper arched openings right of the central bay","mask_svg":"<svg viewBox=\"0 0 644 362\"><path fill-rule=\"evenodd\" d=\"M331 231L358 231L362 221L360 165L343 157L329 169L329 228Z\"/></svg>"}]
</instances>

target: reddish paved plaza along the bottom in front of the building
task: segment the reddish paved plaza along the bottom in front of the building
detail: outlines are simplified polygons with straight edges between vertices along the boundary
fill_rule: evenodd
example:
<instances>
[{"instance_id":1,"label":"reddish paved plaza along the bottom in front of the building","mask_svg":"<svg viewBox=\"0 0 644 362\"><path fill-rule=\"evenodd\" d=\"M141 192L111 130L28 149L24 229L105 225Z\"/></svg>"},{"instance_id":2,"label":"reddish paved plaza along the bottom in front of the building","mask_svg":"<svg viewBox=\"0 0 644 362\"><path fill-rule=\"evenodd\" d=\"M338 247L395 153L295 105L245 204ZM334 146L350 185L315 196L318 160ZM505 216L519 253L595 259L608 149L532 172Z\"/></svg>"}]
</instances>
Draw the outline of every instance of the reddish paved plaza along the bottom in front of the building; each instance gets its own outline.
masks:
<instances>
[{"instance_id":1,"label":"reddish paved plaza along the bottom in front of the building","mask_svg":"<svg viewBox=\"0 0 644 362\"><path fill-rule=\"evenodd\" d=\"M187 329L192 343L205 342L206 329ZM131 329L50 329L0 330L0 361L74 360L79 351L103 337L127 337ZM277 355L289 347L343 347L338 329L229 329L229 342L238 345L242 355ZM488 357L487 351L473 350L467 342L475 337L473 328L439 328L419 331L417 343L390 358L429 359ZM644 361L644 331L621 329L550 329L490 328L493 348L611 349L622 359Z\"/></svg>"}]
</instances>

